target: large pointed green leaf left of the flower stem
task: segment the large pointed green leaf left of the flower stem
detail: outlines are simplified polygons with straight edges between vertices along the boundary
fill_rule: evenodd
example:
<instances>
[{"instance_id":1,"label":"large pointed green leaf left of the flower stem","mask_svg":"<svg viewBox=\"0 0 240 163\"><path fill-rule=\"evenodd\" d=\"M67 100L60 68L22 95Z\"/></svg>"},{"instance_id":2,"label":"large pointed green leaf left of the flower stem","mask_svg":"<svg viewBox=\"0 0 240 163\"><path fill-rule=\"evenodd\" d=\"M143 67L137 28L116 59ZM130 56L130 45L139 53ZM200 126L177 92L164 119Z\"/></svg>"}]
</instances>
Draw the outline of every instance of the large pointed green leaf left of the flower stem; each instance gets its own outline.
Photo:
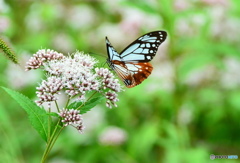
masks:
<instances>
[{"instance_id":1,"label":"large pointed green leaf left of the flower stem","mask_svg":"<svg viewBox=\"0 0 240 163\"><path fill-rule=\"evenodd\" d=\"M5 87L2 88L27 112L32 126L37 130L39 135L47 141L49 116L46 111L23 94Z\"/></svg>"}]
</instances>

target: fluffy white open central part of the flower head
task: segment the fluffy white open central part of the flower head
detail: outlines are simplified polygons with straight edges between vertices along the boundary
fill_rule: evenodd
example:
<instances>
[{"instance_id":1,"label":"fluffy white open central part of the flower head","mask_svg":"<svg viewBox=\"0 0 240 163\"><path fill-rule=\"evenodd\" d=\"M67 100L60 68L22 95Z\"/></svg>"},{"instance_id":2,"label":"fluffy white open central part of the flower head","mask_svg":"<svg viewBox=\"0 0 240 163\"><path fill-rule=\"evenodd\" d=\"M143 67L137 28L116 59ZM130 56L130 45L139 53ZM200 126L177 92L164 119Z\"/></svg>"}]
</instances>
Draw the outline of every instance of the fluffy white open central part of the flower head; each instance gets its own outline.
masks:
<instances>
[{"instance_id":1,"label":"fluffy white open central part of the flower head","mask_svg":"<svg viewBox=\"0 0 240 163\"><path fill-rule=\"evenodd\" d=\"M99 90L99 81L93 72L96 63L94 58L77 52L73 58L69 56L44 63L44 70L62 80L68 96L79 95L79 100L85 100L87 91Z\"/></svg>"}]
</instances>

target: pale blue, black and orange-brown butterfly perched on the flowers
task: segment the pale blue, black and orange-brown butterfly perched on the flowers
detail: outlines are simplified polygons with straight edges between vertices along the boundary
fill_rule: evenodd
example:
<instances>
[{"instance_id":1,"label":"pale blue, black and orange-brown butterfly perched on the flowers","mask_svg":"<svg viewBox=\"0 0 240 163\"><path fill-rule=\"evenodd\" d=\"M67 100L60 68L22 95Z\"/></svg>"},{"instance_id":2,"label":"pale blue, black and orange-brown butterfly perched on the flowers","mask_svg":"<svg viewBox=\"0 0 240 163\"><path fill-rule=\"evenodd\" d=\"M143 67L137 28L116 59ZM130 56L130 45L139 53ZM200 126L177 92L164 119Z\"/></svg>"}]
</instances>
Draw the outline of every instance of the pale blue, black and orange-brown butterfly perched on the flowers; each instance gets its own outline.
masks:
<instances>
[{"instance_id":1,"label":"pale blue, black and orange-brown butterfly perched on the flowers","mask_svg":"<svg viewBox=\"0 0 240 163\"><path fill-rule=\"evenodd\" d=\"M149 63L156 55L159 45L167 38L167 32L149 32L118 53L106 37L109 67L114 70L128 88L142 83L151 74Z\"/></svg>"}]
</instances>

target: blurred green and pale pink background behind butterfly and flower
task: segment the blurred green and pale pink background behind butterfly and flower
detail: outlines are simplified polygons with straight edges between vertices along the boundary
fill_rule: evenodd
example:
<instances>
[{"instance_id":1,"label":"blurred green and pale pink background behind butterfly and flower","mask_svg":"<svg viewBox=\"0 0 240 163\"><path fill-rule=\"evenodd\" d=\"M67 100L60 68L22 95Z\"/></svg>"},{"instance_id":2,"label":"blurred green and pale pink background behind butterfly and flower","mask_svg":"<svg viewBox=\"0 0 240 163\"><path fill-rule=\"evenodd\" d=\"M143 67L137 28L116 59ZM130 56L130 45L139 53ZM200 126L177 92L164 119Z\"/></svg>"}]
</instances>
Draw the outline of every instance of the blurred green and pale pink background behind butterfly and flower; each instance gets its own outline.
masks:
<instances>
[{"instance_id":1,"label":"blurred green and pale pink background behind butterfly and flower","mask_svg":"<svg viewBox=\"0 0 240 163\"><path fill-rule=\"evenodd\" d=\"M0 0L0 34L22 66L0 56L0 85L36 99L38 71L24 64L41 48L94 53L105 36L120 52L140 35L166 30L151 76L68 127L49 156L56 163L229 162L240 157L239 0ZM1 53L2 54L2 53ZM40 162L45 144L26 113L0 90L0 160ZM231 160L237 162L237 160Z\"/></svg>"}]
</instances>

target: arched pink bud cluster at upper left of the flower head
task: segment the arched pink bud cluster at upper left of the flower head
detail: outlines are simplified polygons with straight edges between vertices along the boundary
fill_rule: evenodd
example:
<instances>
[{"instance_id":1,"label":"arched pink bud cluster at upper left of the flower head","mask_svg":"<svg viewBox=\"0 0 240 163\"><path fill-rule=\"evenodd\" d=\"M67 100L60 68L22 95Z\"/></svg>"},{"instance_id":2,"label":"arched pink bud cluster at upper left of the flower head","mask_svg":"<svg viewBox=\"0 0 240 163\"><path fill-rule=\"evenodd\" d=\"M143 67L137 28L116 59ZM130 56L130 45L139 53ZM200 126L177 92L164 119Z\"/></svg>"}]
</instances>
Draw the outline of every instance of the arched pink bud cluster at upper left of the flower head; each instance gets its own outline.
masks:
<instances>
[{"instance_id":1,"label":"arched pink bud cluster at upper left of the flower head","mask_svg":"<svg viewBox=\"0 0 240 163\"><path fill-rule=\"evenodd\" d=\"M31 69L38 69L40 66L43 65L45 61L62 59L62 58L64 58L64 55L62 53L58 53L50 49L47 49L47 50L42 49L42 50L39 50L36 54L33 55L33 57L29 59L25 68L26 68L26 71Z\"/></svg>"}]
</instances>

